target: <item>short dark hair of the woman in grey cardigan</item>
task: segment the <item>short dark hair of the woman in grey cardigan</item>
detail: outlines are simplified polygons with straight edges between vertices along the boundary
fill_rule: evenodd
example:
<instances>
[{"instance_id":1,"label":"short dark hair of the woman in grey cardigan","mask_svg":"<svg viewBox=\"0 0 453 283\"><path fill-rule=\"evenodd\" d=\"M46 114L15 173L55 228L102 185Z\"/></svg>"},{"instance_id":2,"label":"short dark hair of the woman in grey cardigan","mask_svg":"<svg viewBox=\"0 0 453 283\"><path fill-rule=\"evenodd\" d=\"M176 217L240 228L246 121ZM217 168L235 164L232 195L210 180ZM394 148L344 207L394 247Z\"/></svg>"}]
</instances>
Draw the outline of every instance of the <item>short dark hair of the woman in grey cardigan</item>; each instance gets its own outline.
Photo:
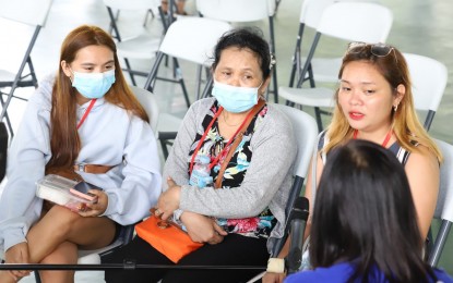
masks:
<instances>
[{"instance_id":1,"label":"short dark hair of the woman in grey cardigan","mask_svg":"<svg viewBox=\"0 0 453 283\"><path fill-rule=\"evenodd\" d=\"M272 58L267 41L263 38L263 32L258 27L240 27L225 33L214 48L214 62L212 69L215 70L220 61L222 51L229 47L250 49L260 62L263 77L271 75Z\"/></svg>"}]
</instances>

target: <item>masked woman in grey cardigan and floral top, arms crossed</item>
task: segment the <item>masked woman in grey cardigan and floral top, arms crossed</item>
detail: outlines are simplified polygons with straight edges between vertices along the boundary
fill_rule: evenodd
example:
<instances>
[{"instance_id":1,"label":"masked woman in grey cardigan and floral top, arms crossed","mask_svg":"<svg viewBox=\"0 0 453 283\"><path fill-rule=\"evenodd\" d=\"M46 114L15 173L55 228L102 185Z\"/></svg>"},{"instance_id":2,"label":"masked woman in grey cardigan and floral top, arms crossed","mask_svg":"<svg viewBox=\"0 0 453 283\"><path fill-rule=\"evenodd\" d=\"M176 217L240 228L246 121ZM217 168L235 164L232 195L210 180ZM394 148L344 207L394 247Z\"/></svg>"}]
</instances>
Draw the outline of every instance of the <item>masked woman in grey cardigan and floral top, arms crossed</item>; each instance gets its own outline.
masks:
<instances>
[{"instance_id":1,"label":"masked woman in grey cardigan and floral top, arms crossed","mask_svg":"<svg viewBox=\"0 0 453 283\"><path fill-rule=\"evenodd\" d=\"M164 168L165 193L156 214L186 226L204 245L178 266L266 266L273 239L283 235L296 143L291 124L263 94L271 54L261 30L225 34L214 49L213 97L184 116ZM243 135L238 128L250 119ZM219 176L231 143L238 140ZM201 158L205 157L205 158ZM206 158L207 157L207 158ZM213 183L194 182L198 160L207 159ZM200 173L200 172L199 172ZM205 184L207 183L207 184ZM170 217L171 216L171 217ZM140 237L106 262L175 264ZM107 282L242 282L255 270L106 271Z\"/></svg>"}]
</instances>

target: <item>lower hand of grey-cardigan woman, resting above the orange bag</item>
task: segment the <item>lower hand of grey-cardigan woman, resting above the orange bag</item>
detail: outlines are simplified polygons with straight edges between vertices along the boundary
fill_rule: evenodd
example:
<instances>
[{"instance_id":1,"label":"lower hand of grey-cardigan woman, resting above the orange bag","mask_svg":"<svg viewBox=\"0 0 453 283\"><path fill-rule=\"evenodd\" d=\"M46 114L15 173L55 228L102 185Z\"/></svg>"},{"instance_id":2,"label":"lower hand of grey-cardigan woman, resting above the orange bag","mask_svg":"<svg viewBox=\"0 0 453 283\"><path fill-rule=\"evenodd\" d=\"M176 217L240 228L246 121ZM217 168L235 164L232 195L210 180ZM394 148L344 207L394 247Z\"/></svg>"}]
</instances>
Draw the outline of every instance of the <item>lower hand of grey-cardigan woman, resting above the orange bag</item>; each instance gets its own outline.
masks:
<instances>
[{"instance_id":1,"label":"lower hand of grey-cardigan woman, resting above the orange bag","mask_svg":"<svg viewBox=\"0 0 453 283\"><path fill-rule=\"evenodd\" d=\"M199 213L184 211L181 214L181 221L184 223L187 232L193 242L207 243L215 245L224 241L228 235L214 219L201 216Z\"/></svg>"}]
</instances>

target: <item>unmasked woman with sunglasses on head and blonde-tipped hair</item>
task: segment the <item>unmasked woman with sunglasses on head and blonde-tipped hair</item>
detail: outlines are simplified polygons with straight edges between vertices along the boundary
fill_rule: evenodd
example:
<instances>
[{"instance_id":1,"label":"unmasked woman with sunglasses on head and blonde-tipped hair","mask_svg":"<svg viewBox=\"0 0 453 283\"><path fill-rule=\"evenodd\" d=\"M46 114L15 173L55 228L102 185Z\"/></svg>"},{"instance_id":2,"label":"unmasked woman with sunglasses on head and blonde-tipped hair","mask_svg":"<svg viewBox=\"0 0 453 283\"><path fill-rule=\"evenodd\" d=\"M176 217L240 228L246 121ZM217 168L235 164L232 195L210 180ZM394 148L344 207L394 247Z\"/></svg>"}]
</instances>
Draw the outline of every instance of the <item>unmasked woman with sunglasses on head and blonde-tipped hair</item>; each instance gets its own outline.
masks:
<instances>
[{"instance_id":1,"label":"unmasked woman with sunglasses on head and blonde-tipped hair","mask_svg":"<svg viewBox=\"0 0 453 283\"><path fill-rule=\"evenodd\" d=\"M332 122L321 134L315 162L307 177L305 196L312 211L313 182L318 183L332 149L349 139L366 139L392 151L404 164L417 211L420 242L427 238L439 190L442 155L420 124L414 108L406 60L394 47L351 42L338 74ZM306 236L310 232L311 218ZM279 258L288 253L289 241ZM421 254L421 251L420 251ZM267 273L265 282L282 275Z\"/></svg>"}]
</instances>

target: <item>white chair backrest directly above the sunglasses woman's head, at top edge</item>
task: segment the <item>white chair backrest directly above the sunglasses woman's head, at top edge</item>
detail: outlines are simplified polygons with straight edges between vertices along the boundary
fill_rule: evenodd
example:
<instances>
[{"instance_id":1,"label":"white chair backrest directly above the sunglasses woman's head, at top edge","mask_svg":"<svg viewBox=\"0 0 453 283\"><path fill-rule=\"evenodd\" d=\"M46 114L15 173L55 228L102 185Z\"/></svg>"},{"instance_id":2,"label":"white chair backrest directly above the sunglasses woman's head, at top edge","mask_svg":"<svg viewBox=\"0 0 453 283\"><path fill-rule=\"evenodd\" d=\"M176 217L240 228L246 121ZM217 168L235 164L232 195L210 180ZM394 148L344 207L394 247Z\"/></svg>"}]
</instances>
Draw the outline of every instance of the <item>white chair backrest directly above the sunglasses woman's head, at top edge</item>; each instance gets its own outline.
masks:
<instances>
[{"instance_id":1,"label":"white chair backrest directly above the sunglasses woman's head, at top edge","mask_svg":"<svg viewBox=\"0 0 453 283\"><path fill-rule=\"evenodd\" d=\"M392 11L371 2L337 2L325 8L317 32L350 41L385 42Z\"/></svg>"}]
</instances>

